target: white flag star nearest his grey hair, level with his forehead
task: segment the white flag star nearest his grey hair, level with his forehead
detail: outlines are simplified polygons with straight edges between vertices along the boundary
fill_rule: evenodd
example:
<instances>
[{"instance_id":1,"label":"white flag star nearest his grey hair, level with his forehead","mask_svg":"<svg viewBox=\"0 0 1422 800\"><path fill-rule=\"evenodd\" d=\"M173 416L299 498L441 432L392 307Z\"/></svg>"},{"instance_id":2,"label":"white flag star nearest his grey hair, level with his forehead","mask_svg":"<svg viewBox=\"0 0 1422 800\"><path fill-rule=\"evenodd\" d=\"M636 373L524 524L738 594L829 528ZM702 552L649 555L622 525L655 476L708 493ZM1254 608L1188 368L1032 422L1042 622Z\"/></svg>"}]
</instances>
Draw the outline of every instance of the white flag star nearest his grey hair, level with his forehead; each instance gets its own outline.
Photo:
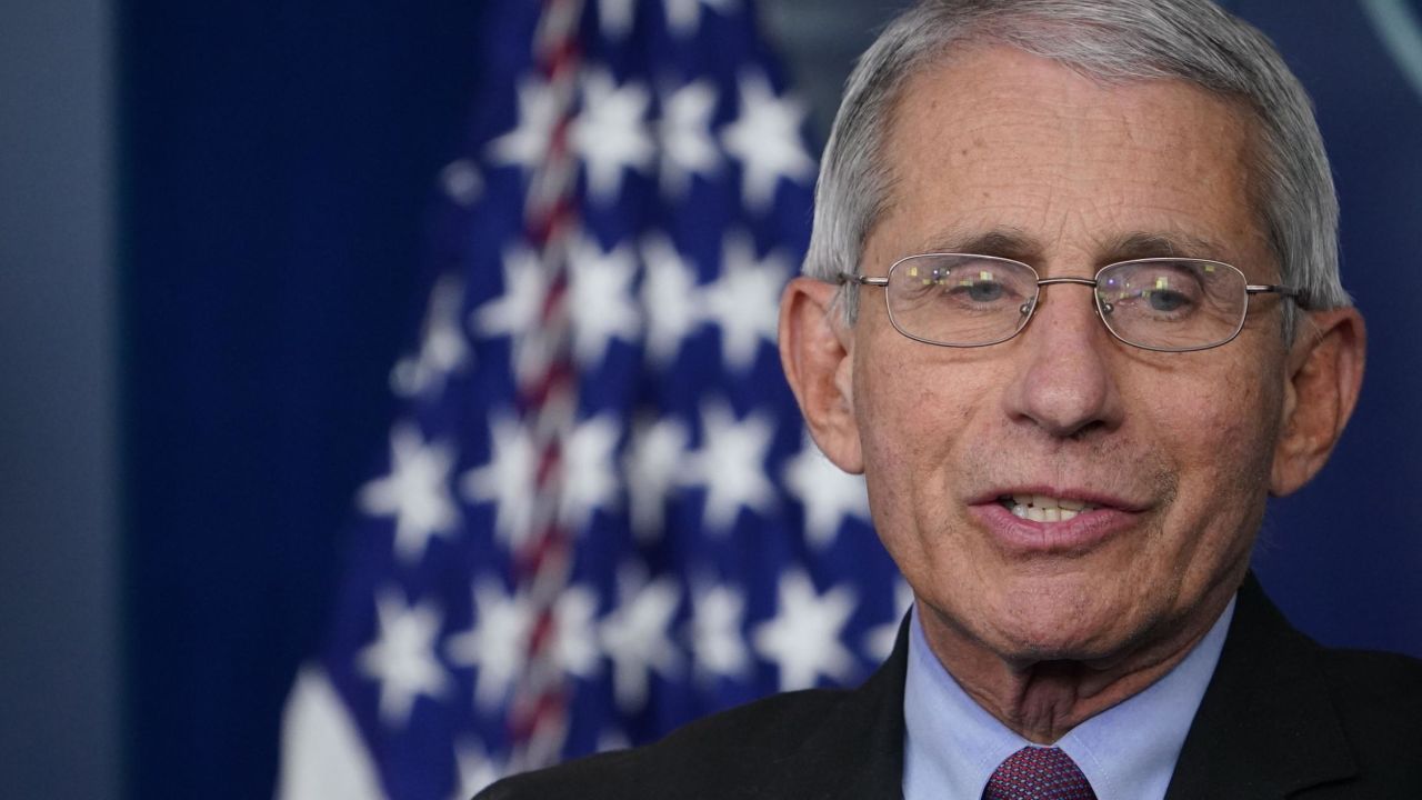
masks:
<instances>
[{"instance_id":1,"label":"white flag star nearest his grey hair, level with his forehead","mask_svg":"<svg viewBox=\"0 0 1422 800\"><path fill-rule=\"evenodd\" d=\"M741 115L721 130L721 141L741 161L745 205L765 211L781 178L809 182L815 177L815 159L801 140L805 105L775 97L759 73L742 74L738 85Z\"/></svg>"}]
</instances>

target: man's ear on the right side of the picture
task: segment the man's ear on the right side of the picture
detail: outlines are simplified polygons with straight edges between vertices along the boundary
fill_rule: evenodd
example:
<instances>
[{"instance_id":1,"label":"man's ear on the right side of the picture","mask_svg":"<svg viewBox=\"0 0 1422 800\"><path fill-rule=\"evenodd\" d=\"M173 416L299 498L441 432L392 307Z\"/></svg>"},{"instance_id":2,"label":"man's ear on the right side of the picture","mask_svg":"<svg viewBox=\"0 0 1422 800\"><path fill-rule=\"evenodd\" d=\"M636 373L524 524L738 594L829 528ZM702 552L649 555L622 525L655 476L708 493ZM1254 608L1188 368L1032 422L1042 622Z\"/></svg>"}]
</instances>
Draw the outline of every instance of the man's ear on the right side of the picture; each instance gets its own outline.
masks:
<instances>
[{"instance_id":1,"label":"man's ear on the right side of the picture","mask_svg":"<svg viewBox=\"0 0 1422 800\"><path fill-rule=\"evenodd\" d=\"M1310 481L1332 453L1358 403L1368 335L1357 309L1311 312L1288 352L1284 419L1274 446L1270 493Z\"/></svg>"}]
</instances>

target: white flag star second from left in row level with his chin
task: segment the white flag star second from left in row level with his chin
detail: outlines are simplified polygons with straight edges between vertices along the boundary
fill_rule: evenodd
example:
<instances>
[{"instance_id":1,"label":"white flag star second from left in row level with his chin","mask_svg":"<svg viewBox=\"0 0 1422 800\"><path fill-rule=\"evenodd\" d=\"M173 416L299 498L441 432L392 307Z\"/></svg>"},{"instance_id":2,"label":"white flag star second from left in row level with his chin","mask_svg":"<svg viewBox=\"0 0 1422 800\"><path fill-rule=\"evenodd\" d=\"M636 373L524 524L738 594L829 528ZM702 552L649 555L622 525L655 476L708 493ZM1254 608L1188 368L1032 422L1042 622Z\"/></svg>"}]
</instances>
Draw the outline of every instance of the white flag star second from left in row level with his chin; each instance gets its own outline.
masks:
<instances>
[{"instance_id":1,"label":"white flag star second from left in row level with his chin","mask_svg":"<svg viewBox=\"0 0 1422 800\"><path fill-rule=\"evenodd\" d=\"M449 663L478 669L474 699L495 710L509 698L513 680L523 666L530 606L516 595L506 595L495 578L474 584L474 625L445 639Z\"/></svg>"}]
</instances>

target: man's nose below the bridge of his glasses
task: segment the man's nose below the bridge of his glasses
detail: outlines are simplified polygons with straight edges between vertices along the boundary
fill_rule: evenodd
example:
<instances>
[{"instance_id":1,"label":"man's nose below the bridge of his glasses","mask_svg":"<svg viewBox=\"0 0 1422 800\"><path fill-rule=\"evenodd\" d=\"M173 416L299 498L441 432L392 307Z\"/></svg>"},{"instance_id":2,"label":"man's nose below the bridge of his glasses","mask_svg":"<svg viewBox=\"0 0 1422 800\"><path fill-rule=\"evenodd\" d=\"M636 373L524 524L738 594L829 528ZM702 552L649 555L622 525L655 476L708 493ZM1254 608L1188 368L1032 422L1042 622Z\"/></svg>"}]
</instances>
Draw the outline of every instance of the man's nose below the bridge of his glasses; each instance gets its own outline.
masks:
<instances>
[{"instance_id":1,"label":"man's nose below the bridge of his glasses","mask_svg":"<svg viewBox=\"0 0 1422 800\"><path fill-rule=\"evenodd\" d=\"M1071 283L1042 288L1012 347L1004 403L1014 421L1058 438L1119 427L1122 403L1112 366L1118 343L1096 316L1092 290Z\"/></svg>"}]
</instances>

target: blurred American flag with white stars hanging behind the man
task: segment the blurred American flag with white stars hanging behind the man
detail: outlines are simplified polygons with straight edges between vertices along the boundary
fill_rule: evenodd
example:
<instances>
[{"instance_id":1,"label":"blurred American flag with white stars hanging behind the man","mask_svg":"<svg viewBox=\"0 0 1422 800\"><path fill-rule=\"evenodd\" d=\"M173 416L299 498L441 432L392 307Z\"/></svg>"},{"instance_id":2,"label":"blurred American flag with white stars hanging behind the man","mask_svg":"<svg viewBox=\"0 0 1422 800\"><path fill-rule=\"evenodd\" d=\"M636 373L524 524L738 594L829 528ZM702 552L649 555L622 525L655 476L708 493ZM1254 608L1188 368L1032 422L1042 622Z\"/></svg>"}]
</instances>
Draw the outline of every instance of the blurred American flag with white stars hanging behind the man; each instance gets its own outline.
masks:
<instances>
[{"instance_id":1,"label":"blurred American flag with white stars hanging behind the man","mask_svg":"<svg viewBox=\"0 0 1422 800\"><path fill-rule=\"evenodd\" d=\"M862 679L907 605L775 350L806 108L749 0L496 0L277 796L458 799Z\"/></svg>"}]
</instances>

